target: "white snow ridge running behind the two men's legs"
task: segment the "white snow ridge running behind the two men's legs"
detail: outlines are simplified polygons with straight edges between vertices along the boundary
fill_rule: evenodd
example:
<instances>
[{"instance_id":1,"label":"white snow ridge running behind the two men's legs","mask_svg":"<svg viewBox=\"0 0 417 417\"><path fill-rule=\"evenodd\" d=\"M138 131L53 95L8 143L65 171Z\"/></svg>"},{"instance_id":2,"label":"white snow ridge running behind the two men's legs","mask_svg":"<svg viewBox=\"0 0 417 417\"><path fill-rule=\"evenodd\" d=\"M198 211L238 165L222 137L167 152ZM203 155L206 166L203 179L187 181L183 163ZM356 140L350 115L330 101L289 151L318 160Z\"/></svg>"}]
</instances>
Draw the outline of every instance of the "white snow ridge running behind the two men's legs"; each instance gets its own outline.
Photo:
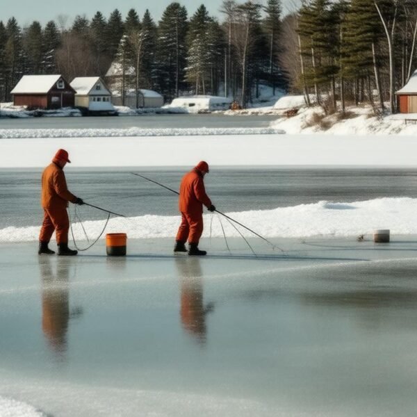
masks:
<instances>
[{"instance_id":1,"label":"white snow ridge running behind the two men's legs","mask_svg":"<svg viewBox=\"0 0 417 417\"><path fill-rule=\"evenodd\" d=\"M221 210L221 208L220 208ZM373 229L391 229L391 234L417 234L417 199L409 197L380 198L364 202L329 202L280 207L272 210L227 213L266 238L301 238L309 236L357 236ZM72 213L71 213L72 214ZM222 218L213 214L211 236L222 237L222 221L226 236L238 232ZM211 214L204 215L204 237L210 236ZM99 236L105 220L85 221L90 238ZM126 232L129 238L174 238L179 216L140 215L133 218L111 218L106 233ZM74 224L76 240L85 240L80 224ZM250 231L238 227L247 237ZM0 242L38 240L40 226L6 227L0 229Z\"/></svg>"}]
</instances>

